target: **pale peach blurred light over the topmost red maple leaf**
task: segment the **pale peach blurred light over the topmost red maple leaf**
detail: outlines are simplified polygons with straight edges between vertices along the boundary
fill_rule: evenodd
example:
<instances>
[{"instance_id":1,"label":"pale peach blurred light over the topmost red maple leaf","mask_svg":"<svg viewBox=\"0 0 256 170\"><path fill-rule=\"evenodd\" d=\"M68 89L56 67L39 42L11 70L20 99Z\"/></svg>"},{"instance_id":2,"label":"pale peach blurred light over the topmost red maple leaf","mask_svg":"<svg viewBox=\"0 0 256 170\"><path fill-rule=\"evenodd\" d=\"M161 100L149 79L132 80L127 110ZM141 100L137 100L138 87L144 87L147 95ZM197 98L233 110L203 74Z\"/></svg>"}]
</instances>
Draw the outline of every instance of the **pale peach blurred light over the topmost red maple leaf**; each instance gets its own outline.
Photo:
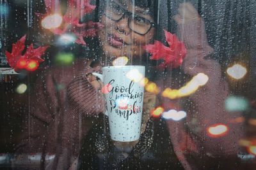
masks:
<instances>
[{"instance_id":1,"label":"pale peach blurred light over the topmost red maple leaf","mask_svg":"<svg viewBox=\"0 0 256 170\"><path fill-rule=\"evenodd\" d=\"M45 29L54 29L54 28L60 27L61 23L62 23L62 17L60 14L56 13L56 14L48 15L47 17L45 17L42 20L41 25Z\"/></svg>"}]
</instances>

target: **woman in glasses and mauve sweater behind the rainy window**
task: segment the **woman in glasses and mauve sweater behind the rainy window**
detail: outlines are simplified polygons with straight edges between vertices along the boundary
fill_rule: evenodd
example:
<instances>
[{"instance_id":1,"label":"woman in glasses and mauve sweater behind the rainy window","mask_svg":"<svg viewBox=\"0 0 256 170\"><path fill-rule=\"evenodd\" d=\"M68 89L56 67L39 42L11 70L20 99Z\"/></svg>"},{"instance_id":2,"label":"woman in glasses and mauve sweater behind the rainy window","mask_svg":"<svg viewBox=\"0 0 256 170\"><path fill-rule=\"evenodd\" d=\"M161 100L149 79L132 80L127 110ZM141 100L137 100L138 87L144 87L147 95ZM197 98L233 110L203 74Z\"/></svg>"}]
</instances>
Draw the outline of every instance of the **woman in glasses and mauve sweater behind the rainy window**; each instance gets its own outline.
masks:
<instances>
[{"instance_id":1,"label":"woman in glasses and mauve sweater behind the rainy window","mask_svg":"<svg viewBox=\"0 0 256 170\"><path fill-rule=\"evenodd\" d=\"M135 1L136 7L132 8L130 1L113 1L111 6L116 10L116 13L120 11L125 11L125 13L120 18L108 15L107 11L102 14L101 22L105 24L105 29L99 31L99 40L100 48L102 48L100 56L104 56L102 58L104 64L109 64L109 61L122 55L127 55L131 57L130 59L138 59L136 58L138 56L147 56L144 48L141 47L152 43L154 35L155 37L157 35L157 15L154 14L156 14L156 6L158 4L164 6L164 2ZM111 9L113 10L113 8ZM145 10L145 8L147 9ZM108 10L108 8L106 9ZM99 9L99 11L103 10ZM188 11L188 13L183 11ZM214 158L216 156L236 154L237 146L230 146L230 142L237 141L241 130L239 129L236 130L236 133L232 133L237 127L236 124L232 124L229 126L230 132L226 136L221 138L207 136L204 131L205 127L221 122L226 124L226 120L229 118L221 106L216 107L223 102L223 97L227 96L226 85L221 80L220 66L216 62L206 59L206 56L212 52L212 48L207 43L204 23L196 13L195 8L190 4L182 4L179 8L179 15L175 17L175 20L179 24L180 37L188 48L188 55L184 60L182 69L189 76L202 72L207 74L210 79L204 89L189 97L190 101L195 102L195 107L193 110L188 110L187 124L166 120L166 122L163 122L163 126L156 127L157 133L169 132L169 134L164 133L166 136L161 141L165 145L168 144L164 147L165 150L160 147L156 151L164 150L163 154L166 154L164 158L172 158L172 161L166 160L166 162L174 163L173 165L175 166L166 165L164 168L200 169L205 166L205 157ZM143 29L132 27L132 22L144 23L145 21L147 21L148 27ZM136 62L142 63L147 59L140 58ZM104 122L100 122L104 121L104 118L101 118L104 111L104 100L98 90L101 84L95 76L90 74L99 70L101 64L100 62L77 60L73 66L54 67L45 73L45 76L36 84L36 92L33 98L35 103L31 108L31 115L29 115L27 123L28 129L25 129L24 140L18 148L19 152L42 153L42 167L47 167L48 169L68 169L71 165L70 168L76 167L76 158L80 152L82 139L85 138L84 140L87 141L84 145L90 146L91 143L88 136L93 136L94 133L90 131L88 134L88 131L93 124L95 126L106 125ZM172 80L171 74L172 72L165 74L165 77L159 76L159 80L156 82L161 89L170 87L175 82ZM217 96L219 92L220 95ZM150 106L145 104L145 110L149 111L154 108L152 105L156 102L155 98L156 96L145 93L144 101L152 103ZM159 104L163 104L166 111L170 109L170 102L179 103L179 101L170 101L170 99L159 96ZM196 125L191 123L193 117L198 118ZM144 118L143 125L145 126L147 122L149 123L143 133L145 135L141 135L141 140L148 139L150 126L155 124L150 123L152 121L152 118ZM161 122L163 120L157 121ZM200 131L194 131L195 126L202 128ZM159 129L157 130L157 128ZM100 129L97 130L101 131ZM88 134L87 138L86 134ZM157 144L159 141L156 138L153 141L154 144L159 145ZM141 145L141 141L137 144L132 145L134 149L131 153L133 155L135 153L145 153L144 151L134 152L135 148L145 146ZM150 150L152 148L154 146L150 145L147 149ZM216 148L222 149L217 150ZM115 147L112 147L112 149L115 150ZM127 151L128 155L131 153ZM47 154L55 155L54 160L50 163L45 160L45 155ZM161 153L158 154L161 156ZM83 157L81 157L82 159ZM116 164L116 166L109 164L109 167L106 168L120 168L122 165L131 167L132 160L134 159L129 161L122 159L121 162L124 164ZM160 160L165 161L165 159ZM198 162L195 162L195 160ZM109 161L111 162L111 160ZM82 164L80 165L83 166ZM148 163L145 166L148 166Z\"/></svg>"}]
</instances>

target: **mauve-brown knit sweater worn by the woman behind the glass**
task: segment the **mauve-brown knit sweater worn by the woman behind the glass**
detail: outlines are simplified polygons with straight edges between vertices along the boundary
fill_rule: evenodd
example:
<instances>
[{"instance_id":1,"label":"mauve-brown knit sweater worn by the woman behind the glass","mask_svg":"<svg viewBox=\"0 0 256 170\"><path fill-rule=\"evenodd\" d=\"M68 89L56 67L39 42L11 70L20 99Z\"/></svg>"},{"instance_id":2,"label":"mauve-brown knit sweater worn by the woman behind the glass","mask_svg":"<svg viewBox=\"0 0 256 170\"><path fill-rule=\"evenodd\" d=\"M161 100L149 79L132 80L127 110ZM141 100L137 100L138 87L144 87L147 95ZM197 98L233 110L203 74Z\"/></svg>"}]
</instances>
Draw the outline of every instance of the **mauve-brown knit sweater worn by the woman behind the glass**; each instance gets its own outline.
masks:
<instances>
[{"instance_id":1,"label":"mauve-brown knit sweater worn by the woman behind the glass","mask_svg":"<svg viewBox=\"0 0 256 170\"><path fill-rule=\"evenodd\" d=\"M188 49L182 69L190 76L205 73L209 81L189 96L193 107L187 110L185 121L166 122L174 151L182 166L185 169L198 169L195 160L201 161L206 155L236 156L239 150L237 141L243 134L243 126L230 123L231 118L240 116L239 113L224 110L228 87L221 79L220 65L207 59L212 48L207 43L204 22L179 25L179 32ZM102 96L86 80L86 74L92 72L93 69L86 66L84 60L77 60L72 66L54 67L38 77L31 96L31 111L24 122L23 139L17 152L55 154L49 169L68 169L77 157L81 139L92 126L93 119L104 110ZM171 76L166 76L159 78L157 84L163 90L170 87L172 81ZM170 109L170 102L180 102L159 98L166 110ZM220 123L228 125L227 135L209 137L206 128ZM195 159L189 158L189 155L194 155Z\"/></svg>"}]
</instances>

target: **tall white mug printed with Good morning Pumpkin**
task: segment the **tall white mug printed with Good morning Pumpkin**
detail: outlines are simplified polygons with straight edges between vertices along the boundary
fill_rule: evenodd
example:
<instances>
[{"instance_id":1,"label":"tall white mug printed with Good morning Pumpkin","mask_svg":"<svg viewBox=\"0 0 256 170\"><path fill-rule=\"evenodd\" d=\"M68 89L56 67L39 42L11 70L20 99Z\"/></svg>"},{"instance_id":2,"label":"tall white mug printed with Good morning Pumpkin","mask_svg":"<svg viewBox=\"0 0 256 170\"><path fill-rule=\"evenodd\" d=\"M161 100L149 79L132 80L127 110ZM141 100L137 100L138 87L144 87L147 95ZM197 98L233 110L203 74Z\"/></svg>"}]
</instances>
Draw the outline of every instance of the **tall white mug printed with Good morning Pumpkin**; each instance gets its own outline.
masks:
<instances>
[{"instance_id":1,"label":"tall white mug printed with Good morning Pumpkin","mask_svg":"<svg viewBox=\"0 0 256 170\"><path fill-rule=\"evenodd\" d=\"M136 141L140 138L145 66L108 66L102 74L92 73L104 83L106 115L111 139Z\"/></svg>"}]
</instances>

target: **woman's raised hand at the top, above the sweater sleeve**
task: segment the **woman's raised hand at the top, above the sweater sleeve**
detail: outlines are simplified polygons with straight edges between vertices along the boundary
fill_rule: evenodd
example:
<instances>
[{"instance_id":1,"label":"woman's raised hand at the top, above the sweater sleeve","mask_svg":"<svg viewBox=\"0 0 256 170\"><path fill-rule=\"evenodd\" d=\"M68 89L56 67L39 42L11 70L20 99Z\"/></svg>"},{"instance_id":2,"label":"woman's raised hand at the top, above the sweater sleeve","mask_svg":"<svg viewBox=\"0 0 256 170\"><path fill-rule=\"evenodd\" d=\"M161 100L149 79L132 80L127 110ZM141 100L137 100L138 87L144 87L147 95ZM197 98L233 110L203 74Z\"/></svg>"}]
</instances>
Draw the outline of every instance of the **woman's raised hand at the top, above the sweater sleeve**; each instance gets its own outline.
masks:
<instances>
[{"instance_id":1,"label":"woman's raised hand at the top, above the sweater sleeve","mask_svg":"<svg viewBox=\"0 0 256 170\"><path fill-rule=\"evenodd\" d=\"M177 24L185 24L191 20L200 20L200 15L191 3L182 3L178 9L179 13L174 16Z\"/></svg>"}]
</instances>

